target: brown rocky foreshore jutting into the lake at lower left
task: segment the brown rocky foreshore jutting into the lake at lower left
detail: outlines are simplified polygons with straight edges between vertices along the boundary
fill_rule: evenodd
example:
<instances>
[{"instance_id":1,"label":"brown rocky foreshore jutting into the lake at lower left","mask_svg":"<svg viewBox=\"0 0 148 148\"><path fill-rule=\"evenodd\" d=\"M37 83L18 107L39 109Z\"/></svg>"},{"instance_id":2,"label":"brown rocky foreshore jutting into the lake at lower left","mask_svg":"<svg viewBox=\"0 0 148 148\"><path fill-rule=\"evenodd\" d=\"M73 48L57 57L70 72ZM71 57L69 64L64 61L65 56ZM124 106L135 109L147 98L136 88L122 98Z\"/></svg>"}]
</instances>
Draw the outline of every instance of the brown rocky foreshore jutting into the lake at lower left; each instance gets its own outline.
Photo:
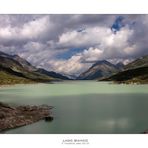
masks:
<instances>
[{"instance_id":1,"label":"brown rocky foreshore jutting into the lake at lower left","mask_svg":"<svg viewBox=\"0 0 148 148\"><path fill-rule=\"evenodd\" d=\"M52 120L52 108L48 105L13 107L0 102L0 131L32 124L42 119Z\"/></svg>"}]
</instances>

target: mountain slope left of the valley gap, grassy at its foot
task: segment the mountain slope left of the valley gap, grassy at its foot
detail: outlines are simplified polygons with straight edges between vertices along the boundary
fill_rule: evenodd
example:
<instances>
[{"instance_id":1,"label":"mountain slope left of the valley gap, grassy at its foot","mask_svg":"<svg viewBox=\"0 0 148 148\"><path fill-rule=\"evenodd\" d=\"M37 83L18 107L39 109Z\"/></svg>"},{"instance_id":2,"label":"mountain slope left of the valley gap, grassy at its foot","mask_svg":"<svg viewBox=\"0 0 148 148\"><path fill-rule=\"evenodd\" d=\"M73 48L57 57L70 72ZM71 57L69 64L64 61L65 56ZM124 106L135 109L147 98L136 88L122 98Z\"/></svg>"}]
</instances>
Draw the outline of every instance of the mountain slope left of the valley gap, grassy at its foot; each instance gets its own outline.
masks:
<instances>
[{"instance_id":1,"label":"mountain slope left of the valley gap, grassy at its foot","mask_svg":"<svg viewBox=\"0 0 148 148\"><path fill-rule=\"evenodd\" d=\"M0 84L51 82L68 80L66 76L38 69L18 55L8 55L0 52Z\"/></svg>"}]
</instances>

